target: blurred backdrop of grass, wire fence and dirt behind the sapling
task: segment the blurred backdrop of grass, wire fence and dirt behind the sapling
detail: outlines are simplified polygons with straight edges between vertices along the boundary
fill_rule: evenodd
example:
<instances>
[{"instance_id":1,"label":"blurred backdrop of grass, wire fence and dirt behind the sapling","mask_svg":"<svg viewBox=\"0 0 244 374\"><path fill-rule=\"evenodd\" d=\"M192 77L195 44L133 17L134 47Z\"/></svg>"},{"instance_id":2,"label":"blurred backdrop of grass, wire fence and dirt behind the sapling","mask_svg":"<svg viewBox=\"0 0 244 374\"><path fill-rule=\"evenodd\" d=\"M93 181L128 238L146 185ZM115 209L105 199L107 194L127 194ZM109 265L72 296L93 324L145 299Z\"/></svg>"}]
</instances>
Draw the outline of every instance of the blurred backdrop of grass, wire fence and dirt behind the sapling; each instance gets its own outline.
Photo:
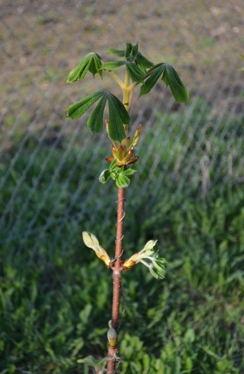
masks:
<instances>
[{"instance_id":1,"label":"blurred backdrop of grass, wire fence and dirt behind the sapling","mask_svg":"<svg viewBox=\"0 0 244 374\"><path fill-rule=\"evenodd\" d=\"M106 352L111 274L81 233L112 255L116 187L98 182L110 142L89 112L64 116L98 88L121 93L109 75L66 80L87 53L109 61L128 40L191 96L177 104L162 81L135 93L124 249L158 239L168 264L164 281L140 265L125 274L119 371L243 373L242 0L0 0L2 374L88 373L76 360Z\"/></svg>"}]
</instances>

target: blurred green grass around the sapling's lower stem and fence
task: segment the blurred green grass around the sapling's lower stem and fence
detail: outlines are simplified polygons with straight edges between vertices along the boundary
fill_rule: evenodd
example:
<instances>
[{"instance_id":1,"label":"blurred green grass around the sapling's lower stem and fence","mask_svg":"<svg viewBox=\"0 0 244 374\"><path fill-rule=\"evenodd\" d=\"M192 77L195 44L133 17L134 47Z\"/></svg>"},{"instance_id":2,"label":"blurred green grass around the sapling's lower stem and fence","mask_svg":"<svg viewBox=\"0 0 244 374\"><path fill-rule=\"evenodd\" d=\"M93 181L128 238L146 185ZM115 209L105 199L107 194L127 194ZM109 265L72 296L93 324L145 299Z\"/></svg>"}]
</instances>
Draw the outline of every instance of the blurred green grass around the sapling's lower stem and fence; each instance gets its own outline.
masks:
<instances>
[{"instance_id":1,"label":"blurred green grass around the sapling's lower stem and fence","mask_svg":"<svg viewBox=\"0 0 244 374\"><path fill-rule=\"evenodd\" d=\"M204 111L197 122L201 107ZM159 116L162 128L158 143L165 140L165 147L156 146L155 154L160 157L160 165L169 163L166 177L157 194L153 194L162 174L159 165L147 190L145 204L136 190L126 206L126 256L142 249L147 240L158 239L160 255L167 260L167 273L165 280L157 281L138 264L123 274L120 373L244 372L244 189L238 183L233 183L231 188L225 183L226 170L216 179L216 166L221 154L225 154L229 135L224 136L225 123L213 134L211 126L205 126L209 116L210 108L204 102L189 118L186 114ZM210 118L210 123L213 121ZM173 123L174 141L168 132ZM180 124L184 123L186 131L180 137ZM237 125L237 120L233 119L230 126L235 129ZM193 141L183 158L184 145L192 128L195 129ZM196 166L187 180L184 176L203 128L206 129L205 139L211 137L214 144L221 142L222 145L216 164L209 170L210 181L216 179L216 182L205 195ZM242 136L242 129L238 131L239 137ZM147 142L150 144L151 140L152 134ZM201 159L203 152L210 152L205 142L201 144L196 160ZM172 153L173 145L175 152ZM63 159L58 172L56 168L65 150L53 151L30 196L50 154L50 148L43 144L3 216L4 206L16 190L36 146L31 140L26 144L1 191L0 373L90 373L86 365L76 360L87 355L102 358L107 350L112 273L84 246L81 232L84 229L93 232L113 255L115 204L111 219L104 223L104 217L110 209L112 194L115 201L116 188L110 184L105 196L103 191L107 185L97 184L95 194L89 197L100 165L97 162L88 170L87 164L93 156L91 147L87 147L82 157L80 148L74 147ZM107 150L100 150L99 154L104 157ZM213 157L211 153L208 156L210 160ZM179 157L182 162L178 177L172 183L170 176L174 176ZM11 157L1 165L1 177L10 161ZM152 163L150 157L141 174L139 188L147 181ZM72 168L75 168L74 175L66 185ZM86 179L77 193L84 173L87 173ZM55 183L49 187L53 178ZM47 188L50 191L40 206ZM74 194L77 194L75 204L57 235L60 220ZM102 203L99 196L103 196ZM151 196L154 200L150 206ZM87 197L89 202L85 203ZM29 199L28 208L23 209L26 199ZM101 209L91 227L91 214L99 202ZM56 210L50 225L45 226L54 206ZM26 226L37 209L39 214L32 224L33 234L23 241ZM19 214L22 215L20 220ZM45 235L38 237L41 227L45 227ZM11 232L13 239L8 241ZM67 240L71 232L73 235Z\"/></svg>"}]
</instances>

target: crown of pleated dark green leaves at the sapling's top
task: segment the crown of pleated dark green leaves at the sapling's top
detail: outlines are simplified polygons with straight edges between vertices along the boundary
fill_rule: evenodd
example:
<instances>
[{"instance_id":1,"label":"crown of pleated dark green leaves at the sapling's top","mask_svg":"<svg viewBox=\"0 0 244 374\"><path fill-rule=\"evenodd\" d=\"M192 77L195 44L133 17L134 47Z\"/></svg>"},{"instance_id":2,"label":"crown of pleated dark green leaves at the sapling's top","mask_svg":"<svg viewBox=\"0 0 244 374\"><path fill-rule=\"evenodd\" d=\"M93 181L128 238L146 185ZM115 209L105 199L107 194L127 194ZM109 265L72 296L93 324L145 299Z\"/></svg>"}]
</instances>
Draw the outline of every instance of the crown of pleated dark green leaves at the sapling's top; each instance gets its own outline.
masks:
<instances>
[{"instance_id":1,"label":"crown of pleated dark green leaves at the sapling's top","mask_svg":"<svg viewBox=\"0 0 244 374\"><path fill-rule=\"evenodd\" d=\"M111 72L113 69L124 65L131 81L134 83L129 87L125 87L122 82L119 82L122 89L131 91L137 84L141 84L140 97L149 93L157 80L161 77L166 86L170 87L178 103L188 103L189 93L175 69L164 62L154 65L138 51L138 43L132 45L131 42L127 42L125 50L109 48L106 52L115 57L124 57L124 59L103 63L98 54L89 53L82 58L79 65L69 74L67 83L74 83L77 80L84 79L88 71L90 71L93 76L97 73L102 78L103 70ZM113 76L115 75L113 74ZM112 140L121 142L126 137L123 125L130 125L130 116L122 102L108 90L97 90L71 105L68 108L67 117L72 119L79 118L98 99L100 99L100 101L88 119L88 127L94 134L102 131L103 112L106 101L108 100L109 136Z\"/></svg>"}]
</instances>

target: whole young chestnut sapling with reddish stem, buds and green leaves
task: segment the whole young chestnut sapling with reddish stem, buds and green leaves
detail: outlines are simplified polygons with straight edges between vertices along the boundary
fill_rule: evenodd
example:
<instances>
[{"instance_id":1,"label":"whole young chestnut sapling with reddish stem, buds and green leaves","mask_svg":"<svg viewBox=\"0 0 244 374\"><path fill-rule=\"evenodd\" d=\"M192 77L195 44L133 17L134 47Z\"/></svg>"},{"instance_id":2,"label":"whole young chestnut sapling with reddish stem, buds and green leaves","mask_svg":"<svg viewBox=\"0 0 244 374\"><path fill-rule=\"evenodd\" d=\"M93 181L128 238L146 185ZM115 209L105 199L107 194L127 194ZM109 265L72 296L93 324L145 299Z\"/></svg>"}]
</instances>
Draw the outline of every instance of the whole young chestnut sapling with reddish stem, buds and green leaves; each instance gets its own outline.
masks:
<instances>
[{"instance_id":1,"label":"whole young chestnut sapling with reddish stem, buds and green leaves","mask_svg":"<svg viewBox=\"0 0 244 374\"><path fill-rule=\"evenodd\" d=\"M135 45L132 45L131 42L127 42L125 50L109 48L106 52L112 56L118 57L119 61L103 62L97 53L89 53L82 58L79 65L69 74L67 83L74 83L77 80L84 79L87 72L91 72L93 76L98 74L103 78L103 71L106 71L120 86L123 93L122 102L107 89L99 89L75 104L72 104L68 108L66 117L72 119L79 118L99 100L87 121L87 126L95 135L103 130L103 113L106 103L108 103L109 120L105 120L105 124L106 131L112 142L112 156L106 157L106 161L110 163L110 167L102 171L99 176L99 181L101 183L107 183L108 180L112 178L118 187L114 258L112 259L108 255L93 234L83 232L83 241L86 246L92 248L105 265L113 271L112 320L109 322L110 328L107 334L109 340L107 373L113 374L116 371L116 360L118 360L117 330L119 323L122 271L130 270L133 265L141 262L149 268L151 275L155 278L163 279L165 273L165 259L158 257L158 252L155 252L153 249L157 241L150 240L140 252L133 254L125 261L121 258L123 254L122 241L124 237L125 188L130 185L130 175L136 172L136 170L132 169L130 166L138 160L138 157L135 157L133 153L142 129L141 125L138 126L132 140L131 137L128 136L128 128L131 122L129 112L132 105L134 89L139 84L141 85L139 98L149 93L159 78L161 78L166 86L169 86L178 103L188 103L189 93L175 69L165 62L154 65L153 62L139 52L138 42ZM113 69L122 67L125 68L124 82L113 72ZM84 362L94 366L97 373L101 373L101 368L105 370L104 359L100 362L101 365L99 365L98 361L93 357L91 358L91 356L80 359L77 362ZM91 362L93 364L91 364Z\"/></svg>"}]
</instances>

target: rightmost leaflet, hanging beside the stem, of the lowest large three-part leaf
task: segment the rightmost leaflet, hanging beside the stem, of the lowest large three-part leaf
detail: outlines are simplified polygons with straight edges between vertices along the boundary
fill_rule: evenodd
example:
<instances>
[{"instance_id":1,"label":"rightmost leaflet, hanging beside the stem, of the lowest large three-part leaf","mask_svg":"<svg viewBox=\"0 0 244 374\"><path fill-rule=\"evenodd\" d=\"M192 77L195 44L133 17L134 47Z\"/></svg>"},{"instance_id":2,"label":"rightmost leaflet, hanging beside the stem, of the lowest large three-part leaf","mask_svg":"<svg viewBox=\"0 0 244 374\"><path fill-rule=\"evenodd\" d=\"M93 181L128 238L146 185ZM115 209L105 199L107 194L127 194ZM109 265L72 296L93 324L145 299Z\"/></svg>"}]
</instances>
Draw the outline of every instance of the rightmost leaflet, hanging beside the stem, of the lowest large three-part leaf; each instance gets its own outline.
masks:
<instances>
[{"instance_id":1,"label":"rightmost leaflet, hanging beside the stem, of the lowest large three-part leaf","mask_svg":"<svg viewBox=\"0 0 244 374\"><path fill-rule=\"evenodd\" d=\"M126 137L124 124L130 125L130 116L121 101L108 91L109 136L121 142Z\"/></svg>"}]
</instances>

